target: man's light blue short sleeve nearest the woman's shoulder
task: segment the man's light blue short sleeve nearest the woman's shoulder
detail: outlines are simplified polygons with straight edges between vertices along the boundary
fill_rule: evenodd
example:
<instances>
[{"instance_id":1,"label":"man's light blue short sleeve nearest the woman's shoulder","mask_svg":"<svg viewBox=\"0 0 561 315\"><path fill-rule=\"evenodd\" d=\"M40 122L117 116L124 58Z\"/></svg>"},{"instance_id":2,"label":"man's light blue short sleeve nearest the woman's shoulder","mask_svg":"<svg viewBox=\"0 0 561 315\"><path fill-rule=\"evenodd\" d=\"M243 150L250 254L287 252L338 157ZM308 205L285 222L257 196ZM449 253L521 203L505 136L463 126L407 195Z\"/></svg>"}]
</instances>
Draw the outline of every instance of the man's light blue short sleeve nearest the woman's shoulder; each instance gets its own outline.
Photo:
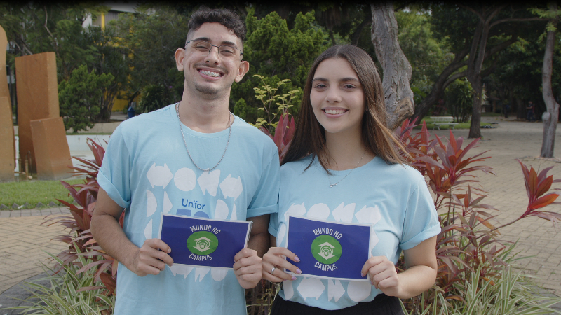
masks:
<instances>
[{"instance_id":1,"label":"man's light blue short sleeve nearest the woman's shoulder","mask_svg":"<svg viewBox=\"0 0 561 315\"><path fill-rule=\"evenodd\" d=\"M255 195L248 207L248 218L278 212L278 188L280 187L280 162L278 150L274 148L273 158L264 167Z\"/></svg>"}]
</instances>

